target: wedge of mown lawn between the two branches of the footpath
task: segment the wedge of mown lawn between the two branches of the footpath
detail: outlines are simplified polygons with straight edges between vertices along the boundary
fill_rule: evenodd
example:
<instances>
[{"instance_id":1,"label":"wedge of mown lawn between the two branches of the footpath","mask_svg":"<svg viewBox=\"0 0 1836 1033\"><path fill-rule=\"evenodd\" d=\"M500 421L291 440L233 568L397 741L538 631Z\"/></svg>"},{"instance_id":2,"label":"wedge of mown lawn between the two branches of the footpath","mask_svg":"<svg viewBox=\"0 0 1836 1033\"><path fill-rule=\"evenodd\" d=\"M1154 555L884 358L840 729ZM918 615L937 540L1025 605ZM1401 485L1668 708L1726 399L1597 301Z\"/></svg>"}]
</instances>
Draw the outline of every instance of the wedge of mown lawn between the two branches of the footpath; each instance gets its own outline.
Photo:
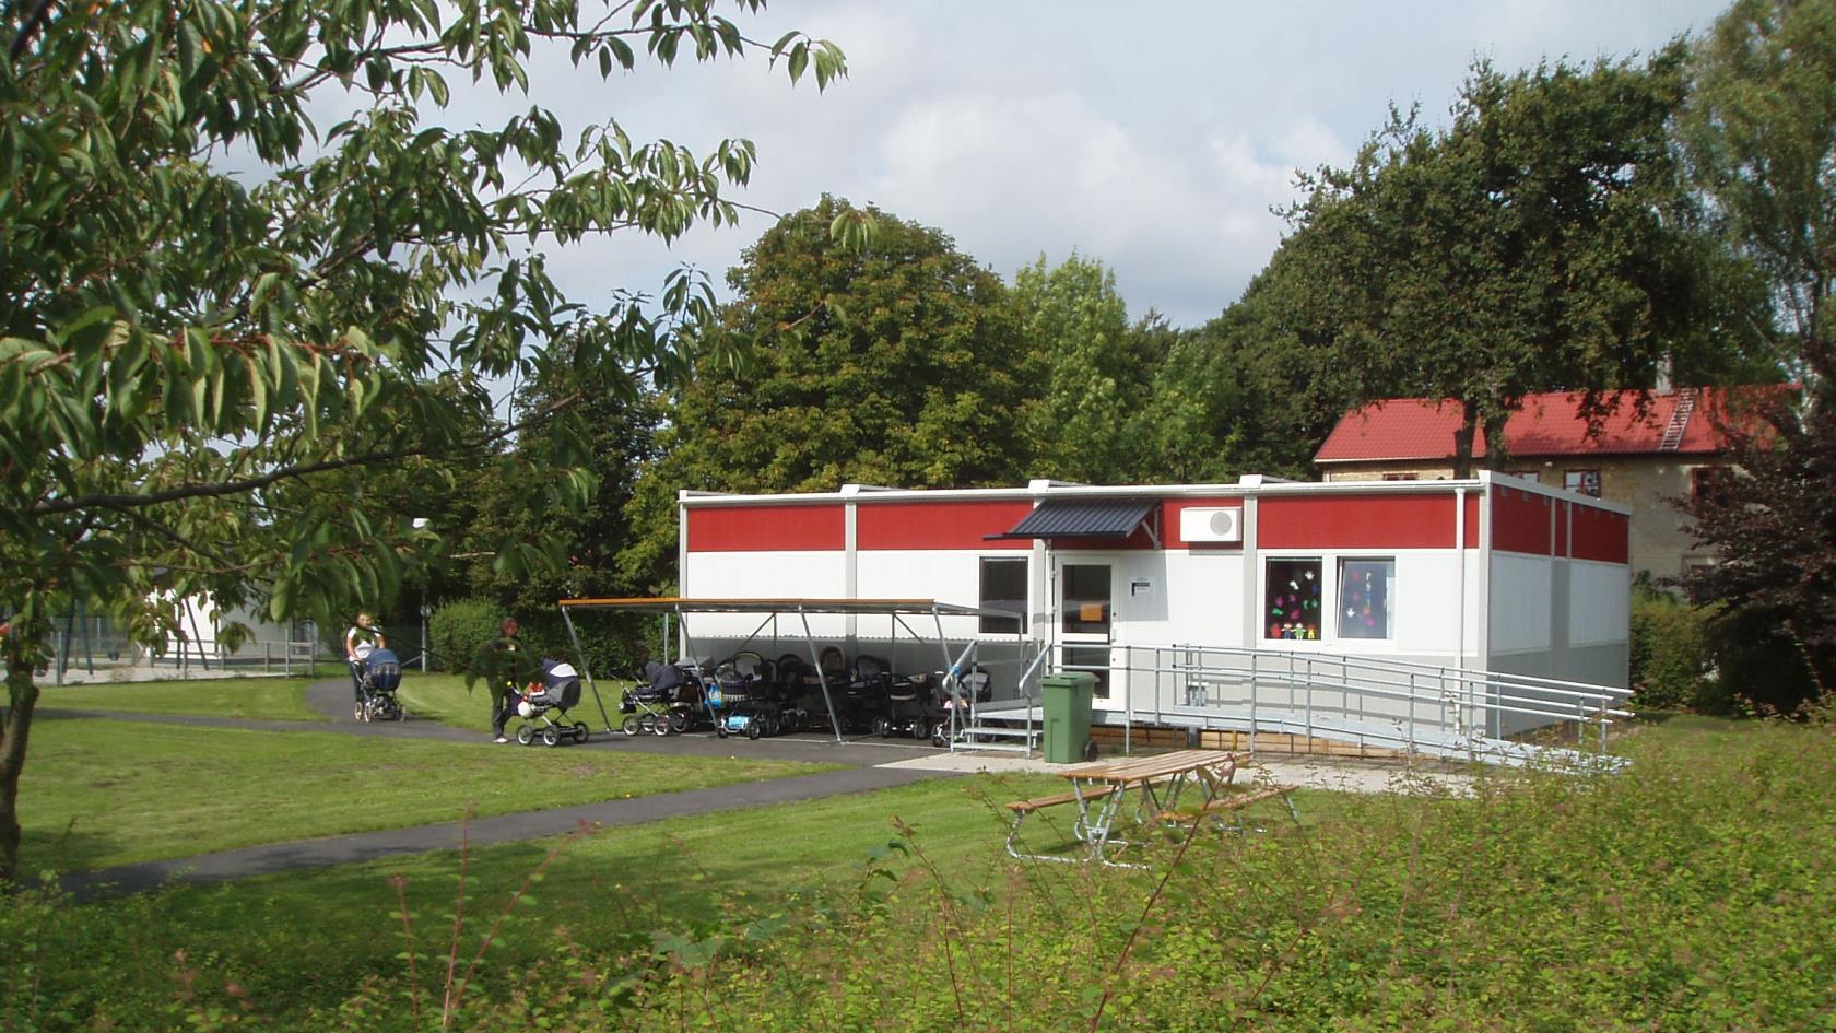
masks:
<instances>
[{"instance_id":1,"label":"wedge of mown lawn between the two branches of the footpath","mask_svg":"<svg viewBox=\"0 0 1836 1033\"><path fill-rule=\"evenodd\" d=\"M20 781L28 869L452 822L826 770L760 759L332 732L40 721Z\"/></svg>"}]
</instances>

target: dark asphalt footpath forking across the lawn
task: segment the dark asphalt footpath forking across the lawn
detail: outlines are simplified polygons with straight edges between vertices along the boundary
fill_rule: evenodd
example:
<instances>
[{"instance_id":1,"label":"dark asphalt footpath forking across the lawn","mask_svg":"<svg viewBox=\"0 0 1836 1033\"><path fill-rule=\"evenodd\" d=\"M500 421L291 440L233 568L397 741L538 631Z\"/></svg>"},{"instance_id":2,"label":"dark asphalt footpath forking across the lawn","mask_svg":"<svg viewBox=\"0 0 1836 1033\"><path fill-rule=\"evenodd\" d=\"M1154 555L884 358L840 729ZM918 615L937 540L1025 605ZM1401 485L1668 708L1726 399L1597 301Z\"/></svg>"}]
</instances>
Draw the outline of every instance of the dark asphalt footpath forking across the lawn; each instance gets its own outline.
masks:
<instances>
[{"instance_id":1,"label":"dark asphalt footpath forking across the lawn","mask_svg":"<svg viewBox=\"0 0 1836 1033\"><path fill-rule=\"evenodd\" d=\"M230 717L202 715L147 715L147 713L103 713L103 711L59 711L46 709L39 717L48 721L64 719L108 719L108 721L147 721L160 724L189 724L198 728L253 728L277 732L336 732L347 735L393 737L393 739L444 739L453 743L472 743L479 750L542 750L543 746L518 746L514 743L496 744L477 732L450 728L433 721L369 722L351 721L351 682L314 682L307 686L307 704L330 717L330 724L308 724L299 721L241 721ZM481 704L483 706L483 704ZM577 709L577 715L589 708ZM597 713L593 715L599 717ZM593 721L588 721L593 724ZM564 834L580 825L637 825L643 822L661 822L687 814L707 814L734 807L758 807L769 803L791 803L799 800L821 800L846 792L868 792L894 785L909 785L931 778L960 774L947 766L925 765L924 757L936 757L936 750L920 743L835 743L812 735L786 735L758 741L723 741L716 735L602 735L595 732L586 744L567 744L565 750L624 750L639 754L674 754L701 757L731 757L738 750L753 755L810 761L824 765L848 765L843 770L819 772L808 776L780 778L769 781L722 785L714 789L694 789L683 792L661 792L632 800L606 800L577 807L553 807L545 811L525 811L520 814L499 814L496 818L474 818L470 823L442 822L437 825L415 825L408 829L386 829L378 833L353 833L347 836L323 836L316 840L296 840L281 844L263 844L253 847L207 853L198 857L180 857L169 860L149 860L141 864L123 864L95 871L77 871L64 875L62 886L77 899L106 897L118 893L138 893L169 886L173 882L211 884L252 875L275 871L297 871L308 868L329 868L334 864L353 864L384 857L424 853L435 849L457 849L461 838L472 846L490 846L534 840L542 836ZM890 766L889 766L890 765Z\"/></svg>"}]
</instances>

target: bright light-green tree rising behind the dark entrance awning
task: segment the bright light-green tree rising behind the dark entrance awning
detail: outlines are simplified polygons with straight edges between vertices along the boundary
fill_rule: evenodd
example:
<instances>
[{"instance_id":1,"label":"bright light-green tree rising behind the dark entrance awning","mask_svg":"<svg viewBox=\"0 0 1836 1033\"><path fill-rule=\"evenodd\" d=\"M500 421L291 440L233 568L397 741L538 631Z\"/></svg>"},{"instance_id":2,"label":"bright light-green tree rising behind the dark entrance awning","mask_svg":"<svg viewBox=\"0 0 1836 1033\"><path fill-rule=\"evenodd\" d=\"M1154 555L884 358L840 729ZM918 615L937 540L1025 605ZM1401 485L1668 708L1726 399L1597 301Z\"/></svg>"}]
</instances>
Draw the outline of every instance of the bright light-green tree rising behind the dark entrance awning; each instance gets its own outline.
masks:
<instances>
[{"instance_id":1,"label":"bright light-green tree rising behind the dark entrance awning","mask_svg":"<svg viewBox=\"0 0 1836 1033\"><path fill-rule=\"evenodd\" d=\"M1013 274L1019 333L1030 349L1028 380L1043 384L1028 406L1034 474L1120 483L1138 461L1124 432L1148 401L1160 335L1129 325L1116 274L1072 252L1047 268L1045 255Z\"/></svg>"}]
</instances>

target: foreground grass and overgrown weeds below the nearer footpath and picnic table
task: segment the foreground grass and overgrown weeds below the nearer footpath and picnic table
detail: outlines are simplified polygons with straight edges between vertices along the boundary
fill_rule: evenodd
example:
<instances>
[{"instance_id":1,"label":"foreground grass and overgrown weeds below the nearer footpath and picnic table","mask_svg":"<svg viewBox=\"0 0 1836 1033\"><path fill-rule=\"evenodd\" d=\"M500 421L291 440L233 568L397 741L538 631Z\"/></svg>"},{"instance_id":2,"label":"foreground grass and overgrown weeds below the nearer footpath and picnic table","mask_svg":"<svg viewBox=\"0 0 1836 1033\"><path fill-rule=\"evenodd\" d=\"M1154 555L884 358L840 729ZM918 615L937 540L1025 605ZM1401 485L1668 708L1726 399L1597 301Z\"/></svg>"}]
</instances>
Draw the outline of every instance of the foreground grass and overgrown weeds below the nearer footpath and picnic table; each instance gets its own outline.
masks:
<instances>
[{"instance_id":1,"label":"foreground grass and overgrown weeds below the nearer footpath and picnic table","mask_svg":"<svg viewBox=\"0 0 1836 1033\"><path fill-rule=\"evenodd\" d=\"M1149 871L1010 860L1001 803L1056 781L982 776L95 906L28 895L0 912L24 945L0 969L39 982L0 1018L430 1029L453 950L461 976L488 958L453 1022L483 1031L1830 1027L1836 735L1678 717L1621 748L1619 776L1305 794L1300 827L1146 836Z\"/></svg>"}]
</instances>

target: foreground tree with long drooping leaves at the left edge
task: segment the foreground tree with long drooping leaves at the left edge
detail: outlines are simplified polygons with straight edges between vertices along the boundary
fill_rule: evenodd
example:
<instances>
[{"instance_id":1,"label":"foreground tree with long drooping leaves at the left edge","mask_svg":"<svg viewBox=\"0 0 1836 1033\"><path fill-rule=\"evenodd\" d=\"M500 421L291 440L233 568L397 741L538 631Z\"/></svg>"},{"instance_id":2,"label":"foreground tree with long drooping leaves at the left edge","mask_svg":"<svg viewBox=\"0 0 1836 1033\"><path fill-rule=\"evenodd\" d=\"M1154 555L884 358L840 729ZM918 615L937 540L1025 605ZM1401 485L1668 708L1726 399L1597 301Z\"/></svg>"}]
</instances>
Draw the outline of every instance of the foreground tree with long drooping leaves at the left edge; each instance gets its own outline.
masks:
<instances>
[{"instance_id":1,"label":"foreground tree with long drooping leaves at the left edge","mask_svg":"<svg viewBox=\"0 0 1836 1033\"><path fill-rule=\"evenodd\" d=\"M755 0L736 4L756 11ZM501 443L582 399L670 382L705 283L564 296L531 244L729 222L753 145L705 158L531 107L448 129L450 77L521 94L536 59L602 77L766 51L797 81L828 42L758 44L711 0L15 4L0 57L0 880L50 618L83 599L143 641L176 599L341 625L437 542L409 524L452 463L578 504ZM321 132L308 108L351 110ZM468 119L470 121L470 119ZM255 175L239 176L233 156ZM488 379L565 384L496 425ZM503 570L538 559L512 544Z\"/></svg>"}]
</instances>

